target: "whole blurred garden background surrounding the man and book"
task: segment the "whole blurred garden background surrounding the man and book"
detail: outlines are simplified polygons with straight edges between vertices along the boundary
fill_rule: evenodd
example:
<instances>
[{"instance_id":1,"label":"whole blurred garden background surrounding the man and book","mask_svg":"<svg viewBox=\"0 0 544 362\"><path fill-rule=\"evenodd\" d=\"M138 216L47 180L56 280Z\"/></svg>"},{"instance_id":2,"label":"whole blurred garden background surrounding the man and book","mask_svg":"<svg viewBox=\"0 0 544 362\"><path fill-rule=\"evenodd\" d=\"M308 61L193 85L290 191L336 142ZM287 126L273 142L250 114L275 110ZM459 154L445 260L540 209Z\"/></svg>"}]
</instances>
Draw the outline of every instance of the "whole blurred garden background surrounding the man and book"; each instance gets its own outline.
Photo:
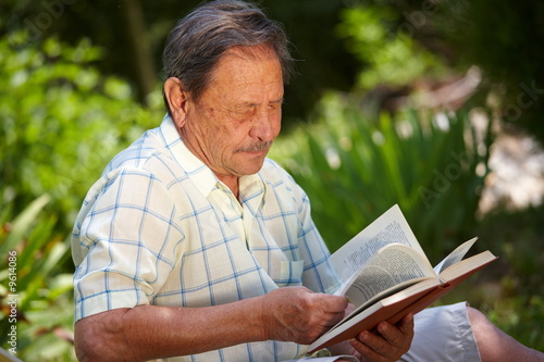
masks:
<instances>
[{"instance_id":1,"label":"whole blurred garden background surrounding the man and book","mask_svg":"<svg viewBox=\"0 0 544 362\"><path fill-rule=\"evenodd\" d=\"M499 260L440 302L544 350L544 3L257 2L298 60L271 157L331 250L394 203L433 264L479 236ZM198 3L0 2L0 346L16 325L24 361L75 360L75 215L160 124L164 39Z\"/></svg>"}]
</instances>

